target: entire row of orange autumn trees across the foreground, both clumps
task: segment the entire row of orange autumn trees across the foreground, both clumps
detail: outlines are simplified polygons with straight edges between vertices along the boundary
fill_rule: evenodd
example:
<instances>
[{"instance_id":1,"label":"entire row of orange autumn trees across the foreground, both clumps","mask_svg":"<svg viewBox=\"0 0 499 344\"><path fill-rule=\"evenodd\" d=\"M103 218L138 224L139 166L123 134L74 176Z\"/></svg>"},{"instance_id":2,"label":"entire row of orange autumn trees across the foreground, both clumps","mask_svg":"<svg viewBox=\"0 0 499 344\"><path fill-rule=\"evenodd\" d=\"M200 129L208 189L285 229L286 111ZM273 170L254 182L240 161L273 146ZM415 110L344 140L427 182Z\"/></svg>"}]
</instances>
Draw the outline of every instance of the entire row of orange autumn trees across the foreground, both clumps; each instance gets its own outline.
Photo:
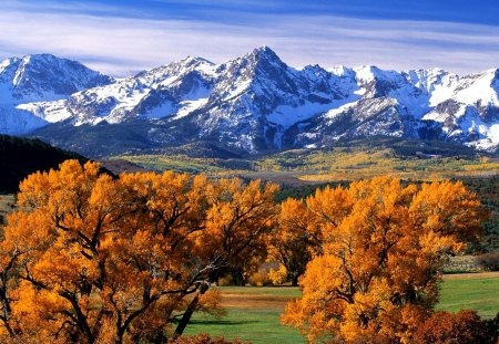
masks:
<instances>
[{"instance_id":1,"label":"entire row of orange autumn trees across the foreground, both clumps","mask_svg":"<svg viewBox=\"0 0 499 344\"><path fill-rule=\"evenodd\" d=\"M265 253L275 277L299 279L282 321L309 341L425 341L445 258L480 233L477 197L450 181L378 177L276 205L271 184L113 178L68 160L20 190L0 242L10 343L224 343L179 337L194 312L220 312L220 278L256 271ZM459 316L440 327L478 324Z\"/></svg>"}]
</instances>

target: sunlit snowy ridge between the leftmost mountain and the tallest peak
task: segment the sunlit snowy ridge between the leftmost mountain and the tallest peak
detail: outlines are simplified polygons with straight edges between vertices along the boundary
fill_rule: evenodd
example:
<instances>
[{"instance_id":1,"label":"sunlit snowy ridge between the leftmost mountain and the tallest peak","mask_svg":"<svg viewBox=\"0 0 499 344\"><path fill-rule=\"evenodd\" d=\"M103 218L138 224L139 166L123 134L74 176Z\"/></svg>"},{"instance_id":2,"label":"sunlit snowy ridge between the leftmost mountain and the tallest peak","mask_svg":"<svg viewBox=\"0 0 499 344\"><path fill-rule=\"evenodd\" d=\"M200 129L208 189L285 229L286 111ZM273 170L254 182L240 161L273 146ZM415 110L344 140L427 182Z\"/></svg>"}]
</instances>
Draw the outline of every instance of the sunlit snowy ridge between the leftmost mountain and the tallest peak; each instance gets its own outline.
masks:
<instances>
[{"instance_id":1,"label":"sunlit snowy ridge between the leftmost mountain and the tallest peak","mask_svg":"<svg viewBox=\"0 0 499 344\"><path fill-rule=\"evenodd\" d=\"M157 119L190 113L205 101L211 90L210 67L198 58L187 58L112 84L88 88L68 100L18 106L49 122L70 122L80 126L143 118Z\"/></svg>"}]
</instances>

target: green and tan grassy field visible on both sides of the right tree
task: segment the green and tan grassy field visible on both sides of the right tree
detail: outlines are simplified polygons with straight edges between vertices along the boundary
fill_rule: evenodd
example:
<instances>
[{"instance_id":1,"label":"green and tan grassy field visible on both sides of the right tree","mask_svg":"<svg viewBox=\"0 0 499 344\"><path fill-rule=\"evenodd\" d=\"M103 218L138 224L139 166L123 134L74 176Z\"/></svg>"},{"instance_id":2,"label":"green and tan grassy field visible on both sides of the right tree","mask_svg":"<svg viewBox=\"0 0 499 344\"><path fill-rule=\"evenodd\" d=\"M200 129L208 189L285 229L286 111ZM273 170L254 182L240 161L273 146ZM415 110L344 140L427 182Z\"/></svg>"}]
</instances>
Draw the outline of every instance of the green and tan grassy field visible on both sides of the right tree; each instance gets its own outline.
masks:
<instances>
[{"instance_id":1,"label":"green and tan grassy field visible on both sides of the right tree","mask_svg":"<svg viewBox=\"0 0 499 344\"><path fill-rule=\"evenodd\" d=\"M445 275L438 310L470 309L481 316L499 312L499 273ZM185 334L210 333L252 343L306 343L299 331L282 326L279 314L287 300L298 298L297 288L222 286L227 314L214 319L197 314Z\"/></svg>"}]
</instances>

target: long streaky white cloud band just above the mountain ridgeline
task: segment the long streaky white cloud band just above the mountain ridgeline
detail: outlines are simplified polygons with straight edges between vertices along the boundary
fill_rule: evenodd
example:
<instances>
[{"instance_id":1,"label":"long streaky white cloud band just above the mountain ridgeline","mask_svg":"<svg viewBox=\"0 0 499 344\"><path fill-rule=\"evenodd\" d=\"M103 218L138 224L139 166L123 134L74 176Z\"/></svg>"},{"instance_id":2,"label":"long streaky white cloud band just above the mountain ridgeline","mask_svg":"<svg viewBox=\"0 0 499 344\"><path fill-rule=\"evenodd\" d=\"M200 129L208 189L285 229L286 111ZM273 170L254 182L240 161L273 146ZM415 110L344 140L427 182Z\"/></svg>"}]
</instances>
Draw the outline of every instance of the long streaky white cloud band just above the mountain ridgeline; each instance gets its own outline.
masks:
<instances>
[{"instance_id":1,"label":"long streaky white cloud band just above the mountain ridgeline","mask_svg":"<svg viewBox=\"0 0 499 344\"><path fill-rule=\"evenodd\" d=\"M294 66L439 66L460 74L499 66L498 28L491 25L276 13L230 22L144 19L113 7L89 13L7 3L0 4L0 56L48 52L119 76L186 55L221 63L263 44Z\"/></svg>"}]
</instances>

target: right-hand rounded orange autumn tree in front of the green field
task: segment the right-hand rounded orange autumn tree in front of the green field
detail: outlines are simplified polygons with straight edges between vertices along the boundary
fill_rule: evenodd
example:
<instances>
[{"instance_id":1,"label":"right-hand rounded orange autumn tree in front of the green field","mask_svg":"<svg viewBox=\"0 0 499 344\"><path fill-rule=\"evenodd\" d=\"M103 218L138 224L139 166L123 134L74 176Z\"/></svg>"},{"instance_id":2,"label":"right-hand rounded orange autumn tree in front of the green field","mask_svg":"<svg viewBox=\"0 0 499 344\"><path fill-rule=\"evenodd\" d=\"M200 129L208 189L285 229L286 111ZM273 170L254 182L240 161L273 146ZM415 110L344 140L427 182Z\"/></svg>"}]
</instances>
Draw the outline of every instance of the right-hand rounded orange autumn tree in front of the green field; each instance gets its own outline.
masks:
<instances>
[{"instance_id":1,"label":"right-hand rounded orange autumn tree in front of the green field","mask_svg":"<svg viewBox=\"0 0 499 344\"><path fill-rule=\"evenodd\" d=\"M378 177L317 190L307 206L322 254L282 321L309 341L410 343L438 300L445 256L480 232L479 201L461 183L417 188Z\"/></svg>"}]
</instances>

